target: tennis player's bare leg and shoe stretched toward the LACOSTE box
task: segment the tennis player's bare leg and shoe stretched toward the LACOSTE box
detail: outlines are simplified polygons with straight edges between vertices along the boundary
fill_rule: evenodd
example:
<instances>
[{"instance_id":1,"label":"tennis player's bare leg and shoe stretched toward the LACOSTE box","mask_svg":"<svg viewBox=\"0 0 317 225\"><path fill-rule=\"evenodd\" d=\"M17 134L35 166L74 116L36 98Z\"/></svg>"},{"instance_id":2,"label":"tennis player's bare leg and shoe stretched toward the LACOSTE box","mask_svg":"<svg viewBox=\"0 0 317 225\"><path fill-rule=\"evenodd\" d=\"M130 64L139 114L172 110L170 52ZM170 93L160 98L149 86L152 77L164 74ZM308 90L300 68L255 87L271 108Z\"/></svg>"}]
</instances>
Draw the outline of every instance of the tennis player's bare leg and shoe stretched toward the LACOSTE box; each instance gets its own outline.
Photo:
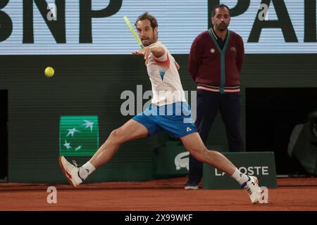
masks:
<instances>
[{"instance_id":1,"label":"tennis player's bare leg and shoe stretched toward the LACOSTE box","mask_svg":"<svg viewBox=\"0 0 317 225\"><path fill-rule=\"evenodd\" d=\"M223 154L218 153L215 150L208 150L197 132L182 136L180 140L194 158L232 176L232 178L235 179L247 193L249 193L251 203L257 203L259 201L261 189L259 188L256 176L247 176L243 174L232 164L232 162L230 162L230 160L225 158Z\"/></svg>"}]
</instances>

